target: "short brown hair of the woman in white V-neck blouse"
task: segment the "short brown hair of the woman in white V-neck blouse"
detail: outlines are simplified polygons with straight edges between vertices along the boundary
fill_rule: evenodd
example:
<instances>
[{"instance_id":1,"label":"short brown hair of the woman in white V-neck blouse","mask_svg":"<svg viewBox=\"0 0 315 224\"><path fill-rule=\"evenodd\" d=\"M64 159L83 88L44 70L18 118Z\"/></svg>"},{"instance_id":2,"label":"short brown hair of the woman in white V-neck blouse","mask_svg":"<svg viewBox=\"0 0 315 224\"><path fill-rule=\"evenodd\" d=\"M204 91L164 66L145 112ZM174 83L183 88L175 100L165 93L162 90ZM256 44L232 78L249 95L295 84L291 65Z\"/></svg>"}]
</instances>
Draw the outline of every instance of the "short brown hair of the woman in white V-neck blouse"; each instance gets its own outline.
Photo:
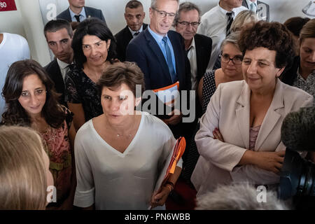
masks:
<instances>
[{"instance_id":1,"label":"short brown hair of the woman in white V-neck blouse","mask_svg":"<svg viewBox=\"0 0 315 224\"><path fill-rule=\"evenodd\" d=\"M136 95L136 85L141 85L141 95L144 92L144 73L134 62L117 62L107 67L97 82L99 95L102 94L104 87L116 89L125 83L130 90Z\"/></svg>"}]
</instances>

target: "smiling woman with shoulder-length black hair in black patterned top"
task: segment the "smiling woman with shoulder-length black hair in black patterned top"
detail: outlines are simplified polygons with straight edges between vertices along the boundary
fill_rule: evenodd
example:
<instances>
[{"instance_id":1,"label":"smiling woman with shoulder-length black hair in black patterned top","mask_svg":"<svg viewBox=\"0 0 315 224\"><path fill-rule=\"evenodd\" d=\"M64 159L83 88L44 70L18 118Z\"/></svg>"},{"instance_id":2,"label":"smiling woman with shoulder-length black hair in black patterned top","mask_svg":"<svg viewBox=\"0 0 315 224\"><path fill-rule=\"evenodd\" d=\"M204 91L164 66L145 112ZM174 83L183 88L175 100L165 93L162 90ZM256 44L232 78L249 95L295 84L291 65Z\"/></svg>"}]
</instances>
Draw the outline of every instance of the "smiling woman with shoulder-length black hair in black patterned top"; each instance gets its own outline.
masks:
<instances>
[{"instance_id":1,"label":"smiling woman with shoulder-length black hair in black patterned top","mask_svg":"<svg viewBox=\"0 0 315 224\"><path fill-rule=\"evenodd\" d=\"M72 40L75 66L66 73L66 99L78 130L87 120L101 115L97 80L116 62L116 43L105 22L88 18L80 22Z\"/></svg>"}]
</instances>

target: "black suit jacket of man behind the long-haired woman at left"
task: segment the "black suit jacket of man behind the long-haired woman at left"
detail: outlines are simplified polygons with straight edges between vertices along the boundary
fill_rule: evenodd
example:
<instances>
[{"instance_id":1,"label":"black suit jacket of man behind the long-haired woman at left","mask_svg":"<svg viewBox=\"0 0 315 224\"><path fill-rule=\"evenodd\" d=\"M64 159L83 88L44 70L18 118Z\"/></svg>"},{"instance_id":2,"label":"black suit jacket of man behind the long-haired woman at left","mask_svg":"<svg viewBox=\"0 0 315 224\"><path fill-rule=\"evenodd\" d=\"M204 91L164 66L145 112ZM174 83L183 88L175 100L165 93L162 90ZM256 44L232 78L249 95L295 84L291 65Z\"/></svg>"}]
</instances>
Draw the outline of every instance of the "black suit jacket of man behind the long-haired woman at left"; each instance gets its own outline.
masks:
<instances>
[{"instance_id":1,"label":"black suit jacket of man behind the long-haired woman at left","mask_svg":"<svg viewBox=\"0 0 315 224\"><path fill-rule=\"evenodd\" d=\"M62 94L61 97L59 97L58 102L60 104L63 104L64 106L67 106L65 101L65 95L64 95L64 79L62 78L62 73L60 71L57 59L54 59L52 62L47 64L44 69L47 71L49 78L52 80L53 83L55 83L55 90L59 94Z\"/></svg>"}]
</instances>

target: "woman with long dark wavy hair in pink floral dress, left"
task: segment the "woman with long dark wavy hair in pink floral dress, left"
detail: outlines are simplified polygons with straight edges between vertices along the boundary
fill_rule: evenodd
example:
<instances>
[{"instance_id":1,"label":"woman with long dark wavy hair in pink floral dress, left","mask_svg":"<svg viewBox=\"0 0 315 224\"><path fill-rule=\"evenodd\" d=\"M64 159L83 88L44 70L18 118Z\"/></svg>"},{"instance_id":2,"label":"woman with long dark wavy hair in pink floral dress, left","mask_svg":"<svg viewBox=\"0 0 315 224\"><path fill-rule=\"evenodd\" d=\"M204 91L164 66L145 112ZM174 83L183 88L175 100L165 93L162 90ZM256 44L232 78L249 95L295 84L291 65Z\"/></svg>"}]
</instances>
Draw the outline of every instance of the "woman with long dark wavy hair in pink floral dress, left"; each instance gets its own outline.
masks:
<instances>
[{"instance_id":1,"label":"woman with long dark wavy hair in pink floral dress, left","mask_svg":"<svg viewBox=\"0 0 315 224\"><path fill-rule=\"evenodd\" d=\"M50 172L57 188L57 202L48 207L71 209L76 188L71 146L76 131L71 112L57 102L52 80L38 62L18 61L8 70L2 94L6 100L2 124L31 127L48 146Z\"/></svg>"}]
</instances>

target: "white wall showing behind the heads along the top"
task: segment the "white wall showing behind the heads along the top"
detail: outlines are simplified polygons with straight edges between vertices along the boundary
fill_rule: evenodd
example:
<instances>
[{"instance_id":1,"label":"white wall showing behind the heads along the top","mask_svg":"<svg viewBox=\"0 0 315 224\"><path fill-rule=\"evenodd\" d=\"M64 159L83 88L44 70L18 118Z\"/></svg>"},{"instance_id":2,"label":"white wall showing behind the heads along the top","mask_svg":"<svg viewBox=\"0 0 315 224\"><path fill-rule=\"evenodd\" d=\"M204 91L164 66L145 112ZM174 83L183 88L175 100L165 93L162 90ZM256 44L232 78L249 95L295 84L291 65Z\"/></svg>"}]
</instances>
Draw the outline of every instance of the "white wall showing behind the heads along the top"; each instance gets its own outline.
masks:
<instances>
[{"instance_id":1,"label":"white wall showing behind the heads along the top","mask_svg":"<svg viewBox=\"0 0 315 224\"><path fill-rule=\"evenodd\" d=\"M86 6L102 9L109 28L116 34L125 27L123 13L125 4L129 0L85 0ZM141 0L140 0L141 1ZM181 0L181 2L186 0ZM216 6L218 0L190 0L200 6L202 14ZM306 17L302 8L309 3L309 0L261 0L269 4L270 20L284 22L293 16ZM146 23L149 22L148 8L151 0L142 0L146 12ZM20 34L27 38L31 49L31 57L41 65L50 62L50 55L43 26L48 18L51 18L62 10L65 10L69 3L67 0L15 0L18 10L0 12L0 32ZM48 8L49 6L49 8ZM55 9L55 10L54 10ZM43 17L42 17L43 15Z\"/></svg>"}]
</instances>

